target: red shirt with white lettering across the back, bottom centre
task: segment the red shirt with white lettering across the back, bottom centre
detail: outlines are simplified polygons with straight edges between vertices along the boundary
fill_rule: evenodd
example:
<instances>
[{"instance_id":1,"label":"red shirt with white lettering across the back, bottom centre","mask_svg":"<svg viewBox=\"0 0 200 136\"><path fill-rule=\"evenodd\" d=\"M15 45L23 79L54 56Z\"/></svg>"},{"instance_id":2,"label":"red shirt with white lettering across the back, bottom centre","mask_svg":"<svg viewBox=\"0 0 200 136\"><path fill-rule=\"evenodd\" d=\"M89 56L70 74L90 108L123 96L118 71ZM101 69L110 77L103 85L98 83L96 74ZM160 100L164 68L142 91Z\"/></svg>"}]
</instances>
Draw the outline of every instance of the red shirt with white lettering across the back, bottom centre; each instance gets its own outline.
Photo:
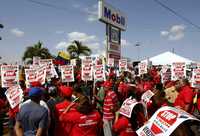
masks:
<instances>
[{"instance_id":1,"label":"red shirt with white lettering across the back, bottom centre","mask_svg":"<svg viewBox=\"0 0 200 136\"><path fill-rule=\"evenodd\" d=\"M73 126L69 136L96 136L101 125L101 116L97 111L84 115L74 110L66 113L63 121Z\"/></svg>"}]
</instances>

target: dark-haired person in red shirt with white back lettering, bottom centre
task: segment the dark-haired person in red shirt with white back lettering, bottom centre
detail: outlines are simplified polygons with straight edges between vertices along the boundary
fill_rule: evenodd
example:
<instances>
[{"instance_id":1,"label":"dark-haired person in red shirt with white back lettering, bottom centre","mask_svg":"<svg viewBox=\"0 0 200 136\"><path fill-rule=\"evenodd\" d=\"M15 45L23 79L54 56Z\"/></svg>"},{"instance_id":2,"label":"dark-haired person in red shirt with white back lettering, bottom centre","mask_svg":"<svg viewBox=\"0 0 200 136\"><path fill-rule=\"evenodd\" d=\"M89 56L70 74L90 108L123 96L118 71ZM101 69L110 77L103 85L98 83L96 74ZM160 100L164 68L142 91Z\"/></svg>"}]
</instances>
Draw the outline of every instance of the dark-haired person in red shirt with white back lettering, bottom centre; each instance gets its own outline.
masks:
<instances>
[{"instance_id":1,"label":"dark-haired person in red shirt with white back lettering, bottom centre","mask_svg":"<svg viewBox=\"0 0 200 136\"><path fill-rule=\"evenodd\" d=\"M92 108L89 99L84 96L80 99L77 110L69 111L62 116L63 122L71 126L71 132L67 136L97 136L101 127L101 116Z\"/></svg>"}]
</instances>

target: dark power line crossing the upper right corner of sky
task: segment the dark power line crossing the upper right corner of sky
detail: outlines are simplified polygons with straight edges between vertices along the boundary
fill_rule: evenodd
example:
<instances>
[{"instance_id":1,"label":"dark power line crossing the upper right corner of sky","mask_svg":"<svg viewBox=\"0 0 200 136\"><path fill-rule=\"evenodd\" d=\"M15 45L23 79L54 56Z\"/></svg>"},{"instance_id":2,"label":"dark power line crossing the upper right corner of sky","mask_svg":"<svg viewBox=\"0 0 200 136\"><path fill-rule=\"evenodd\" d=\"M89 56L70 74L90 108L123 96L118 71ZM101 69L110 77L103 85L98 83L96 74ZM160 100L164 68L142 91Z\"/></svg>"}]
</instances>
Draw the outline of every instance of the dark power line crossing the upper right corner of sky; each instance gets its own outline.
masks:
<instances>
[{"instance_id":1,"label":"dark power line crossing the upper right corner of sky","mask_svg":"<svg viewBox=\"0 0 200 136\"><path fill-rule=\"evenodd\" d=\"M173 13L174 15L176 15L177 17L181 18L183 21L187 22L188 24L192 25L193 27L197 28L200 30L200 26L193 23L190 19L184 17L183 15L181 15L180 13L176 12L175 10L173 10L172 8L168 7L167 5L165 5L164 3L162 3L159 0L153 0L154 2L156 2L157 4L159 4L160 6L162 6L163 8L165 8L166 10L170 11L171 13Z\"/></svg>"}]
</instances>

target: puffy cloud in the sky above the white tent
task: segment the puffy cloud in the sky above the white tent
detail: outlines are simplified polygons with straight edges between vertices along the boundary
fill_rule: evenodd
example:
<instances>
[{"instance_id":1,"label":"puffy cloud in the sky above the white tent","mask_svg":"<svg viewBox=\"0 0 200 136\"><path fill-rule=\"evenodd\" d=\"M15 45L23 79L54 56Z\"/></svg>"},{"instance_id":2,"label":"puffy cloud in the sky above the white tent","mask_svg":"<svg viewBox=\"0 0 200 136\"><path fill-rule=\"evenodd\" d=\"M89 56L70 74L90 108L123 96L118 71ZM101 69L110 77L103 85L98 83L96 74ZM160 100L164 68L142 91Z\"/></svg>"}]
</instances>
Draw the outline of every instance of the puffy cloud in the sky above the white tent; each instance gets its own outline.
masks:
<instances>
[{"instance_id":1,"label":"puffy cloud in the sky above the white tent","mask_svg":"<svg viewBox=\"0 0 200 136\"><path fill-rule=\"evenodd\" d=\"M161 31L161 36L166 36L170 41L181 40L185 36L184 25L174 25L168 31Z\"/></svg>"}]
</instances>

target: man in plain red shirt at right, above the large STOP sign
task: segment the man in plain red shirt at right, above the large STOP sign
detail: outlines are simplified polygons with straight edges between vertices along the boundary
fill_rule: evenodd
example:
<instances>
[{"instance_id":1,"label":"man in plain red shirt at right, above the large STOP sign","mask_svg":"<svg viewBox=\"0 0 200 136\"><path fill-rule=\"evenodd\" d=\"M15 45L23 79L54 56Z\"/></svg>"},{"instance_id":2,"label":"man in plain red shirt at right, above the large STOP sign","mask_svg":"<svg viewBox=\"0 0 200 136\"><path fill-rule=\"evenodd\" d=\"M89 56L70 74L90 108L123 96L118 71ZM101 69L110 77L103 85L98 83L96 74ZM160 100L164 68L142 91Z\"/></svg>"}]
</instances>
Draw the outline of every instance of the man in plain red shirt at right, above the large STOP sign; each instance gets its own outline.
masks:
<instances>
[{"instance_id":1,"label":"man in plain red shirt at right, above the large STOP sign","mask_svg":"<svg viewBox=\"0 0 200 136\"><path fill-rule=\"evenodd\" d=\"M190 87L187 79L182 79L176 84L176 88L179 94L174 102L174 106L181 108L187 112L191 111L191 106L193 102L194 92Z\"/></svg>"}]
</instances>

